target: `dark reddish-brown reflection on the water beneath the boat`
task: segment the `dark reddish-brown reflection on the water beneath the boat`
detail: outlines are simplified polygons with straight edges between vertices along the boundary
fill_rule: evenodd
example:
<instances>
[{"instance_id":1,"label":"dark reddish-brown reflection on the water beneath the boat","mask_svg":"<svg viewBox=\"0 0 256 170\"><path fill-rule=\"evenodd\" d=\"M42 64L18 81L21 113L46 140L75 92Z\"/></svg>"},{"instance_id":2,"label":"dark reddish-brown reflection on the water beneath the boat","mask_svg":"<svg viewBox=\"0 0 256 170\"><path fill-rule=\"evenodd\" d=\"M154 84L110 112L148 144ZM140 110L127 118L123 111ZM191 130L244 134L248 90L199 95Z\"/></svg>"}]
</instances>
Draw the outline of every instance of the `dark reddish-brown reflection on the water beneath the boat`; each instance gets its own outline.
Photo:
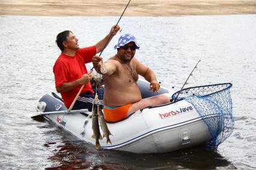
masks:
<instances>
[{"instance_id":1,"label":"dark reddish-brown reflection on the water beneath the boat","mask_svg":"<svg viewBox=\"0 0 256 170\"><path fill-rule=\"evenodd\" d=\"M54 125L52 125L54 126ZM58 128L55 133L62 133ZM46 169L215 169L234 168L231 162L204 146L171 153L135 154L124 151L99 150L85 144L67 132L62 133L62 143L47 143L52 149L48 159L55 163Z\"/></svg>"}]
</instances>

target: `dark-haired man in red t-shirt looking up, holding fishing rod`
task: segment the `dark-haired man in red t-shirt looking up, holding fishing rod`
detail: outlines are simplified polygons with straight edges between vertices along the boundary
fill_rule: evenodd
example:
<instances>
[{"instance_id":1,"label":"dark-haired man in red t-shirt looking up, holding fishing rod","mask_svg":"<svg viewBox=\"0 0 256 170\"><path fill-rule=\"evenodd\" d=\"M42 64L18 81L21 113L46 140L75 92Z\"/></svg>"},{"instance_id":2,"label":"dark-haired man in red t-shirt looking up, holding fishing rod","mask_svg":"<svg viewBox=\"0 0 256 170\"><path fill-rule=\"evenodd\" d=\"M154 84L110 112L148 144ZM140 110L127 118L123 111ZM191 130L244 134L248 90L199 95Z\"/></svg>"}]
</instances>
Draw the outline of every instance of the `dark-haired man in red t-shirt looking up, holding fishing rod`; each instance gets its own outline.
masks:
<instances>
[{"instance_id":1,"label":"dark-haired man in red t-shirt looking up, holding fishing rod","mask_svg":"<svg viewBox=\"0 0 256 170\"><path fill-rule=\"evenodd\" d=\"M92 73L87 71L85 63L92 62L93 56L100 53L105 45L108 45L107 41L110 41L119 29L120 26L112 26L105 38L97 42L96 45L85 48L79 48L78 38L71 31L63 31L57 35L56 44L61 50L61 54L53 66L53 73L56 91L61 93L67 108L72 104L81 86L85 84L73 110L81 108L91 110L96 90L91 87ZM113 34L111 34L112 32ZM102 101L103 92L98 92L98 94Z\"/></svg>"}]
</instances>

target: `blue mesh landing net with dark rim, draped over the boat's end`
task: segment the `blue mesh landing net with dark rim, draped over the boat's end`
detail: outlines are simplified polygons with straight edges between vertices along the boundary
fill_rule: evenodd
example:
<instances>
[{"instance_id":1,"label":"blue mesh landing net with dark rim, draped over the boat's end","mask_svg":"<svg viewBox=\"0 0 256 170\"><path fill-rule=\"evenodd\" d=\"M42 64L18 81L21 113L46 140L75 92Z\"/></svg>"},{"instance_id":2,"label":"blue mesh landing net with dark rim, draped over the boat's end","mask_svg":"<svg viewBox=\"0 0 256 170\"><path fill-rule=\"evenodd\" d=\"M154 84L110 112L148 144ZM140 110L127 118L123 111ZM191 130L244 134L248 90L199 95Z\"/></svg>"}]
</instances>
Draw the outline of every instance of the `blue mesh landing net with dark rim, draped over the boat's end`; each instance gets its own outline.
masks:
<instances>
[{"instance_id":1,"label":"blue mesh landing net with dark rim, draped over the boat's end","mask_svg":"<svg viewBox=\"0 0 256 170\"><path fill-rule=\"evenodd\" d=\"M208 126L212 141L207 144L210 150L217 150L234 129L231 83L213 84L209 86L190 87L172 95L172 99L186 100L192 104Z\"/></svg>"}]
</instances>

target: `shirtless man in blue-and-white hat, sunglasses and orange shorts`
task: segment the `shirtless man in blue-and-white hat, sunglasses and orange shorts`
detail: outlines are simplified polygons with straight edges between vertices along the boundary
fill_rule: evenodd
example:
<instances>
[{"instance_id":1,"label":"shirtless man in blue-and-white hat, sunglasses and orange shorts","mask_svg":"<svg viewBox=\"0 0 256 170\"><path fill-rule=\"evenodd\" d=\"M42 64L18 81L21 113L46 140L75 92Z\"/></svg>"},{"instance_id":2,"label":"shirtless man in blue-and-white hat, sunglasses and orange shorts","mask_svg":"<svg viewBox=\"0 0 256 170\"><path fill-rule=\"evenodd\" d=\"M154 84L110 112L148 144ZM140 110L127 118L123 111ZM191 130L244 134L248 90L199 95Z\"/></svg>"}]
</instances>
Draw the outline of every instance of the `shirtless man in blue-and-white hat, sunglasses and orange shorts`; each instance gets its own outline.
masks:
<instances>
[{"instance_id":1,"label":"shirtless man in blue-and-white hat, sunglasses and orange shorts","mask_svg":"<svg viewBox=\"0 0 256 170\"><path fill-rule=\"evenodd\" d=\"M150 90L158 92L160 84L154 72L136 59L139 45L131 34L121 35L118 40L117 54L103 63L102 57L94 56L93 65L103 75L105 91L103 97L105 119L117 122L125 119L137 110L148 106L168 104L168 96L158 95L142 99L139 91L138 74L150 82Z\"/></svg>"}]
</instances>

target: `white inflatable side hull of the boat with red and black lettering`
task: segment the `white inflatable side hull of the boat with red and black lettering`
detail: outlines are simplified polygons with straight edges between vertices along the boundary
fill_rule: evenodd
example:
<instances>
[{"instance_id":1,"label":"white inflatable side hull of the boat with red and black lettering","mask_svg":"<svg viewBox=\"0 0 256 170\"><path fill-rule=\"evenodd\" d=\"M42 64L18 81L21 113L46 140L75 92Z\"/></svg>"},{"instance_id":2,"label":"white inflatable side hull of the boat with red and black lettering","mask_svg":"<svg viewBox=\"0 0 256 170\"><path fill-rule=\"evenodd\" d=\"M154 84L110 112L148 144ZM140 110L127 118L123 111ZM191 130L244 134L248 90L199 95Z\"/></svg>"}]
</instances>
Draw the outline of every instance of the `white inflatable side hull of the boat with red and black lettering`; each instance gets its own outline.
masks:
<instances>
[{"instance_id":1,"label":"white inflatable side hull of the boat with red and black lettering","mask_svg":"<svg viewBox=\"0 0 256 170\"><path fill-rule=\"evenodd\" d=\"M67 110L63 102L52 94L44 95L47 111ZM91 112L45 115L47 120L67 130L77 138L94 145ZM211 115L210 117L218 117ZM112 144L100 140L102 148L133 153L165 153L204 144L211 140L209 130L195 108L186 101L137 111L126 120L108 123ZM101 130L102 133L102 130Z\"/></svg>"}]
</instances>

